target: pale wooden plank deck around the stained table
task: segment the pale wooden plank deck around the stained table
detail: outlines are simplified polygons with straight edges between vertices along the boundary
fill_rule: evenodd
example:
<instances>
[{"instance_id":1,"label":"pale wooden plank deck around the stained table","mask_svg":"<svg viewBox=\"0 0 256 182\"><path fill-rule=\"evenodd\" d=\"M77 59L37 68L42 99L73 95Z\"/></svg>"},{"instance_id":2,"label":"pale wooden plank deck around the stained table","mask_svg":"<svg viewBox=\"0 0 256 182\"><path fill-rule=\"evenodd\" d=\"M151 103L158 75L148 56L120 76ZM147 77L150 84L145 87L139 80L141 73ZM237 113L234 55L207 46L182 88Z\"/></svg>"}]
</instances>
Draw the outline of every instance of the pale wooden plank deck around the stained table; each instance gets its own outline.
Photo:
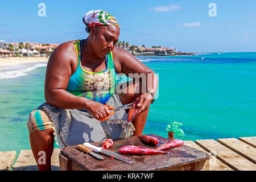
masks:
<instances>
[{"instance_id":1,"label":"pale wooden plank deck around the stained table","mask_svg":"<svg viewBox=\"0 0 256 182\"><path fill-rule=\"evenodd\" d=\"M184 141L185 145L197 150L208 152L212 157L205 163L202 170L231 171L256 170L256 137L240 137L213 140ZM52 154L52 170L59 170L59 152L55 148ZM0 152L0 170L10 170L16 157L15 151ZM208 166L207 166L208 165ZM15 171L38 170L31 150L22 150L13 166Z\"/></svg>"}]
</instances>

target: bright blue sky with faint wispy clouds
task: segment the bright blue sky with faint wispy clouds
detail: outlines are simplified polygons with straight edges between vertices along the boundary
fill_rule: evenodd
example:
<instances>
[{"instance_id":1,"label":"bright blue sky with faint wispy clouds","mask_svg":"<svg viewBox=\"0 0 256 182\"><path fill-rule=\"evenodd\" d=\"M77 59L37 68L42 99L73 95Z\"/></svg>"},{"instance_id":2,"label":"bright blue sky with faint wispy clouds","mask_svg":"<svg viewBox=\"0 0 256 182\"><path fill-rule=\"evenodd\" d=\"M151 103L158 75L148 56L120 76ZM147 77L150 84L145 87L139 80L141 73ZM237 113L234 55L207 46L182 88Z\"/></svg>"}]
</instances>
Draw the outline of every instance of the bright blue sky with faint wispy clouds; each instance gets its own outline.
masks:
<instances>
[{"instance_id":1,"label":"bright blue sky with faint wispy clouds","mask_svg":"<svg viewBox=\"0 0 256 182\"><path fill-rule=\"evenodd\" d=\"M39 3L46 16L39 17ZM217 16L208 7L216 4ZM108 11L121 27L119 40L130 45L163 46L183 52L255 52L256 1L1 1L0 40L63 43L85 39L82 16Z\"/></svg>"}]
</instances>

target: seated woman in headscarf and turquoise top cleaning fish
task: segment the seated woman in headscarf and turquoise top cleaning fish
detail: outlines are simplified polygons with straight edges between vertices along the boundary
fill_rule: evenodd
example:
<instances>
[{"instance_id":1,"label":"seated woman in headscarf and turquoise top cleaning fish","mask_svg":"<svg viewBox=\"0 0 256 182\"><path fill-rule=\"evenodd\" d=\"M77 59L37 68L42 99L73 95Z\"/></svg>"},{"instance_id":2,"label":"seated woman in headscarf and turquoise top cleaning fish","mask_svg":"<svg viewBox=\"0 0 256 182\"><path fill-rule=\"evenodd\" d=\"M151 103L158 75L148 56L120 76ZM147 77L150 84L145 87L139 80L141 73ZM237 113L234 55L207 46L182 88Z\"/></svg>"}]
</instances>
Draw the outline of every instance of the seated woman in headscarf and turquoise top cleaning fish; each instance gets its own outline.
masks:
<instances>
[{"instance_id":1,"label":"seated woman in headscarf and turquoise top cleaning fish","mask_svg":"<svg viewBox=\"0 0 256 182\"><path fill-rule=\"evenodd\" d=\"M30 145L39 170L51 170L54 137L59 148L63 148L105 138L141 135L158 88L158 78L150 68L115 47L120 30L114 16L92 10L84 15L83 22L88 38L65 42L55 49L46 69L46 102L28 118ZM119 73L133 80L136 79L131 73L138 73L146 81L142 78L121 84ZM127 123L124 110L115 112L106 121L98 121L110 114L104 104L117 107L137 98L141 109L132 122ZM45 152L46 163L38 162L40 151Z\"/></svg>"}]
</instances>

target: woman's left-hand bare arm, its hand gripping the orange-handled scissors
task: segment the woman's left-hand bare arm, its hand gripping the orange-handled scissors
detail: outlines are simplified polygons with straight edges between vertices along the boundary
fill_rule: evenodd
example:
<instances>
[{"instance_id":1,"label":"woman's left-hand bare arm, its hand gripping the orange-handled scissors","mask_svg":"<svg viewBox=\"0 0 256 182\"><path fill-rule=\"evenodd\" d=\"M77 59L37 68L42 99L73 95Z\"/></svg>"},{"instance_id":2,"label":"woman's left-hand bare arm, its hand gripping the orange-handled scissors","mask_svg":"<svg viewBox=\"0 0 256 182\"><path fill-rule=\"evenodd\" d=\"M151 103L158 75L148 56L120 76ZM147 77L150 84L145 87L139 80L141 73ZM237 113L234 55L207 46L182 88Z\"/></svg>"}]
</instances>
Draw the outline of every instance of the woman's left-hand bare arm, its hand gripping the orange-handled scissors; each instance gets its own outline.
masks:
<instances>
[{"instance_id":1,"label":"woman's left-hand bare arm, its hand gripping the orange-handled scissors","mask_svg":"<svg viewBox=\"0 0 256 182\"><path fill-rule=\"evenodd\" d=\"M85 97L77 97L65 89L77 68L77 54L73 42L60 44L49 58L46 68L44 97L49 104L62 109L86 109L96 119L109 115L104 105Z\"/></svg>"}]
</instances>

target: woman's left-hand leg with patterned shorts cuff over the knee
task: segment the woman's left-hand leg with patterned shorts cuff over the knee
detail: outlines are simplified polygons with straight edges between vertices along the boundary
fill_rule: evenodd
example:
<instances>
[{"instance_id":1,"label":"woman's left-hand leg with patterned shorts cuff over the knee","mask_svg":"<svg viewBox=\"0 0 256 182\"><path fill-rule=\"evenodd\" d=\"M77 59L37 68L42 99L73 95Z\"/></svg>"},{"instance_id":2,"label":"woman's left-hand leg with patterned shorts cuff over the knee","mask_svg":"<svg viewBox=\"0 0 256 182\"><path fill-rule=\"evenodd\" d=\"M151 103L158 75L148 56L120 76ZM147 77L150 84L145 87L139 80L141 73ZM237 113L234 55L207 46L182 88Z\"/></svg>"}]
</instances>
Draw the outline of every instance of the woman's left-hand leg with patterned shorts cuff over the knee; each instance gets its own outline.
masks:
<instances>
[{"instance_id":1,"label":"woman's left-hand leg with patterned shorts cuff over the knee","mask_svg":"<svg viewBox=\"0 0 256 182\"><path fill-rule=\"evenodd\" d=\"M39 171L51 170L51 156L54 148L51 118L44 110L34 110L28 117L30 146Z\"/></svg>"}]
</instances>

